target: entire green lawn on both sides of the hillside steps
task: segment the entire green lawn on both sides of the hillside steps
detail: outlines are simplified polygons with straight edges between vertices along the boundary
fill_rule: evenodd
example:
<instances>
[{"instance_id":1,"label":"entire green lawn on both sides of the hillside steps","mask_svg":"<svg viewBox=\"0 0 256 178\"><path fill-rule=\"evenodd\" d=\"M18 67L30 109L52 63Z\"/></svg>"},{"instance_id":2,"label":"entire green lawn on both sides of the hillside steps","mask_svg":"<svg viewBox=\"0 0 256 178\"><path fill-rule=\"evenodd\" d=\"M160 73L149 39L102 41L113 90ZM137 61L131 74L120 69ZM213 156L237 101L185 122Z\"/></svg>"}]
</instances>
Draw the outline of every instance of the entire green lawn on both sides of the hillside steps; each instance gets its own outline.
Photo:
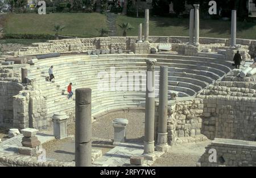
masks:
<instances>
[{"instance_id":1,"label":"entire green lawn on both sides of the hillside steps","mask_svg":"<svg viewBox=\"0 0 256 178\"><path fill-rule=\"evenodd\" d=\"M138 24L143 18L132 18L119 15L117 24L129 22L134 27L128 36L138 35ZM4 31L13 34L54 34L55 24L65 26L61 35L94 37L99 36L97 30L106 28L106 16L103 14L57 13L57 14L9 14ZM150 18L150 35L156 36L188 36L189 19L183 18ZM118 27L118 34L122 30ZM230 38L230 22L223 20L200 20L200 36L212 38ZM238 22L237 38L256 39L256 22Z\"/></svg>"}]
</instances>

